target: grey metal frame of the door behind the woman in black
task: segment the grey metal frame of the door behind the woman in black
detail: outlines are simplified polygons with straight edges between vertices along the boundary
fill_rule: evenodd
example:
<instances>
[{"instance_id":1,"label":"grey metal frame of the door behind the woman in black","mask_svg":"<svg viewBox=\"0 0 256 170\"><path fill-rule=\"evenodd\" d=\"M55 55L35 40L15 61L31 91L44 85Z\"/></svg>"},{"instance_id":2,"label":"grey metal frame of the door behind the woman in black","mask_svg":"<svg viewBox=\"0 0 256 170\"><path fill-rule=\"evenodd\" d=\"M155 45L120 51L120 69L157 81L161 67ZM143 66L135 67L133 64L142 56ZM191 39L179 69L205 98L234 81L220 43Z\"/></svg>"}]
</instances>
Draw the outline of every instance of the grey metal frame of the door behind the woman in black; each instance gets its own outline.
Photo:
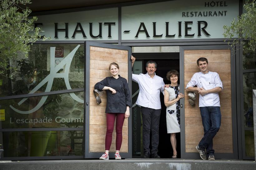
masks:
<instances>
[{"instance_id":1,"label":"grey metal frame of the door behind the woman in black","mask_svg":"<svg viewBox=\"0 0 256 170\"><path fill-rule=\"evenodd\" d=\"M102 47L102 48L113 48L113 49L120 49L120 50L127 50L128 56L131 55L131 47L121 46L121 45L113 45L113 44L103 44L103 43L96 43L92 41L85 42L85 54L86 54L86 69L85 69L85 158L99 158L102 153L100 152L90 152L89 150L89 113L90 113L90 46L94 47ZM128 57L128 68L131 68L131 60ZM131 91L131 69L128 70L128 86ZM88 102L88 104L87 104ZM131 113L131 108L130 108ZM131 118L128 119L128 153L122 153L122 158L131 158L132 157L132 126L131 126ZM110 158L114 158L114 154L110 154Z\"/></svg>"}]
</instances>

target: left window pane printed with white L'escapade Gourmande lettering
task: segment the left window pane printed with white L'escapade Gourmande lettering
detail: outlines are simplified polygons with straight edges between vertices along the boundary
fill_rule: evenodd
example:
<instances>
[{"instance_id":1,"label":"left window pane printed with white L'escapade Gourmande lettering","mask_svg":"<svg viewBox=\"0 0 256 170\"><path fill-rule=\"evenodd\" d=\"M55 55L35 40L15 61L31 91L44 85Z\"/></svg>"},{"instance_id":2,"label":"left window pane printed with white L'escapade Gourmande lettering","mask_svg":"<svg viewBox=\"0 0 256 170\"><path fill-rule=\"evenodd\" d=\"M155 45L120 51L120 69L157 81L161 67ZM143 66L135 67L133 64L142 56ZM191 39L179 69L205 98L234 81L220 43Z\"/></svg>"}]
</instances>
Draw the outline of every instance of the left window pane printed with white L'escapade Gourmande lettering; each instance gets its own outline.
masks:
<instances>
[{"instance_id":1,"label":"left window pane printed with white L'escapade Gourmande lettering","mask_svg":"<svg viewBox=\"0 0 256 170\"><path fill-rule=\"evenodd\" d=\"M71 96L72 95L72 96ZM75 98L82 101L76 101ZM52 94L26 99L0 100L5 120L0 126L5 128L38 127L83 127L84 92ZM17 109L17 110L16 110Z\"/></svg>"}]
</instances>

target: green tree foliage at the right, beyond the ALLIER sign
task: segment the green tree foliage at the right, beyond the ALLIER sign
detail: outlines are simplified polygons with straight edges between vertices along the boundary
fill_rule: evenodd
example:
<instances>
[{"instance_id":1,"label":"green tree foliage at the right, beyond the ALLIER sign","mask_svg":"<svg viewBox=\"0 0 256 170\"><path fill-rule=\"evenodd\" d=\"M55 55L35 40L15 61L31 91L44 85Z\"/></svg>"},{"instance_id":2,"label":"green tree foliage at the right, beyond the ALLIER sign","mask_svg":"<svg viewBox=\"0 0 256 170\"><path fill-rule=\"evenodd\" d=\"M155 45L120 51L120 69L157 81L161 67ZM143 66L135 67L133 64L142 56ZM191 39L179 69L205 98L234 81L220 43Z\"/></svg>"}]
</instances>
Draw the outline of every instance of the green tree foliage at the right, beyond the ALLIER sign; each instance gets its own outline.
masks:
<instances>
[{"instance_id":1,"label":"green tree foliage at the right, beyond the ALLIER sign","mask_svg":"<svg viewBox=\"0 0 256 170\"><path fill-rule=\"evenodd\" d=\"M245 53L255 52L256 50L256 3L253 0L246 0L244 4L245 13L238 16L231 22L231 26L224 25L224 37L228 39L234 38L231 47L235 50L235 45L239 44L243 47Z\"/></svg>"}]
</instances>

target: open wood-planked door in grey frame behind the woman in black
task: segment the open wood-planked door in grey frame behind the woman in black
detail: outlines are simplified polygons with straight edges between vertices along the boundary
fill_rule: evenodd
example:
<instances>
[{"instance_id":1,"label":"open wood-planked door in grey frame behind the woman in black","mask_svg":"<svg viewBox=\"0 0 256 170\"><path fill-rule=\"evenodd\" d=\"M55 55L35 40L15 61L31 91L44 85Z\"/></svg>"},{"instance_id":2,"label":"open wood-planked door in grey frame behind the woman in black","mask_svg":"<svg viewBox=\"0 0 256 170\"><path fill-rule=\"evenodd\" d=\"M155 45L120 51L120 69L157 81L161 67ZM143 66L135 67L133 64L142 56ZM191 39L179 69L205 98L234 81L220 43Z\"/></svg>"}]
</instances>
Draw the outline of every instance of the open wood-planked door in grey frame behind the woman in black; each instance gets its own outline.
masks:
<instances>
[{"instance_id":1,"label":"open wood-planked door in grey frame behind the woman in black","mask_svg":"<svg viewBox=\"0 0 256 170\"><path fill-rule=\"evenodd\" d=\"M90 44L90 45L88 45ZM92 45L91 45L92 44ZM113 48L112 48L113 47ZM94 85L103 80L104 78L111 76L109 71L109 65L111 62L116 62L120 67L119 74L128 80L128 62L130 55L130 47L93 43L87 42L86 45L86 62L87 70L86 85L89 89L89 93L86 94L89 100L89 108L86 109L86 141L88 141L86 149L86 158L97 158L97 155L101 155L105 152L105 136L106 136L106 93L101 96L101 103L97 104L93 94ZM130 65L131 66L131 65ZM122 157L129 157L128 149L128 119L125 119L123 125L123 140L121 146ZM116 130L114 127L112 144L110 152L116 151ZM127 154L125 154L127 153Z\"/></svg>"}]
</instances>

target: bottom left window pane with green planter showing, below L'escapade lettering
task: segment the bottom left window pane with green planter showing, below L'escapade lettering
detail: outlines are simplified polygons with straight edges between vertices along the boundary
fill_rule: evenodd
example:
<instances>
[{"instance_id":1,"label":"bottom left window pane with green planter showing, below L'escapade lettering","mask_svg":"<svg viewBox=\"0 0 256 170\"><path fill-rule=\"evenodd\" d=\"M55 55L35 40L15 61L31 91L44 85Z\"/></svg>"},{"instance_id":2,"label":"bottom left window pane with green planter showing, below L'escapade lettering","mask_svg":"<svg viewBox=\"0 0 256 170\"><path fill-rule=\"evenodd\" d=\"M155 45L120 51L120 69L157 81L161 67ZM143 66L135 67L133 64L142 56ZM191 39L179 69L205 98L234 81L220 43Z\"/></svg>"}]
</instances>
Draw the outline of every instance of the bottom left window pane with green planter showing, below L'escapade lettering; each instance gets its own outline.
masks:
<instances>
[{"instance_id":1,"label":"bottom left window pane with green planter showing, below L'escapade lettering","mask_svg":"<svg viewBox=\"0 0 256 170\"><path fill-rule=\"evenodd\" d=\"M83 131L21 131L2 134L2 157L83 155Z\"/></svg>"}]
</instances>

